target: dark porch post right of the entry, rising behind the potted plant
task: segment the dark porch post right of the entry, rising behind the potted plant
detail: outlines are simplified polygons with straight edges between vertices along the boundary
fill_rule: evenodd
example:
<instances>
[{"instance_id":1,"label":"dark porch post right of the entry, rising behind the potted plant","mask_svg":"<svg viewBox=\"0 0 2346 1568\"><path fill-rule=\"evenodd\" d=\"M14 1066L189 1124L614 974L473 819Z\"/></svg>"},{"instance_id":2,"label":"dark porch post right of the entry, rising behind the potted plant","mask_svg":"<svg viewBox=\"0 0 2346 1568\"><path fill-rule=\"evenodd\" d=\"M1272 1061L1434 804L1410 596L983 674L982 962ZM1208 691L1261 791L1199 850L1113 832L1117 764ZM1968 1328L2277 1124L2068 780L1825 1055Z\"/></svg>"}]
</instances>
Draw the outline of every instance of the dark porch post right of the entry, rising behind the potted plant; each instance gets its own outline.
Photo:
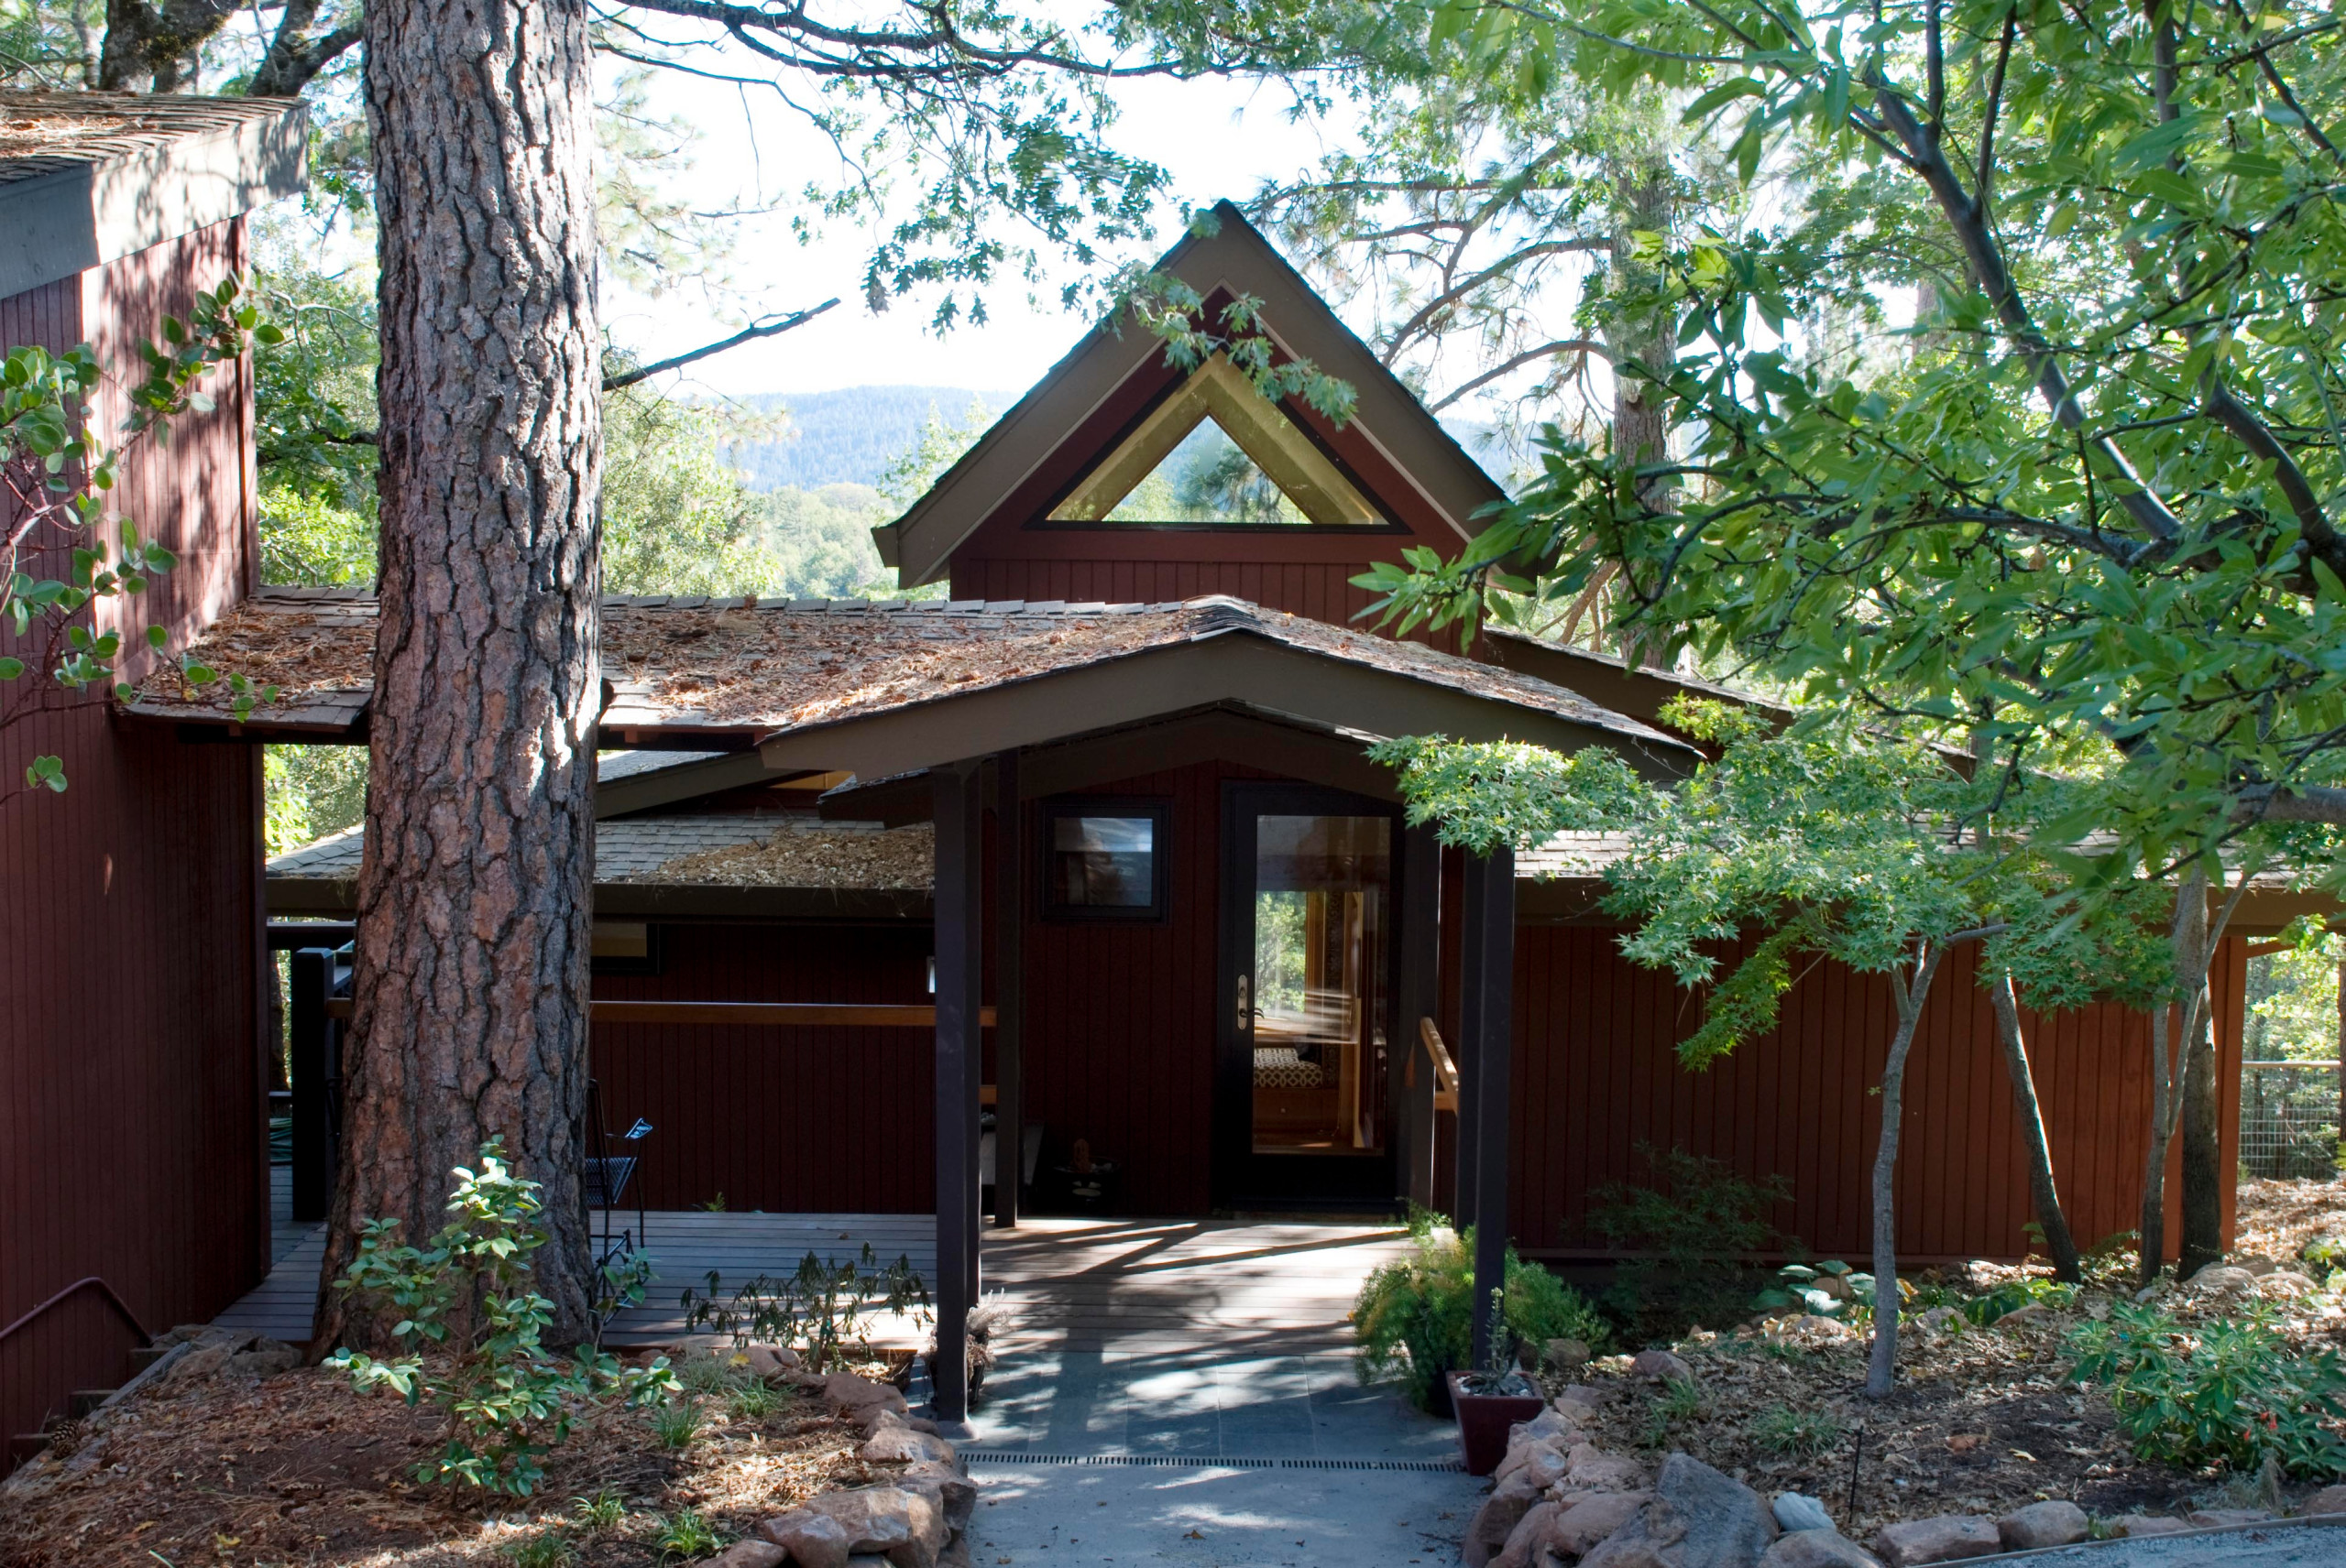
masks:
<instances>
[{"instance_id":1,"label":"dark porch post right of the entry, rising behind the potted plant","mask_svg":"<svg viewBox=\"0 0 2346 1568\"><path fill-rule=\"evenodd\" d=\"M1490 1362L1504 1324L1492 1320L1492 1291L1506 1287L1506 1090L1516 1059L1516 851L1466 860L1466 994L1473 1010L1473 1078L1459 1085L1476 1120L1473 1357ZM1464 1174L1464 1172L1462 1172Z\"/></svg>"}]
</instances>

